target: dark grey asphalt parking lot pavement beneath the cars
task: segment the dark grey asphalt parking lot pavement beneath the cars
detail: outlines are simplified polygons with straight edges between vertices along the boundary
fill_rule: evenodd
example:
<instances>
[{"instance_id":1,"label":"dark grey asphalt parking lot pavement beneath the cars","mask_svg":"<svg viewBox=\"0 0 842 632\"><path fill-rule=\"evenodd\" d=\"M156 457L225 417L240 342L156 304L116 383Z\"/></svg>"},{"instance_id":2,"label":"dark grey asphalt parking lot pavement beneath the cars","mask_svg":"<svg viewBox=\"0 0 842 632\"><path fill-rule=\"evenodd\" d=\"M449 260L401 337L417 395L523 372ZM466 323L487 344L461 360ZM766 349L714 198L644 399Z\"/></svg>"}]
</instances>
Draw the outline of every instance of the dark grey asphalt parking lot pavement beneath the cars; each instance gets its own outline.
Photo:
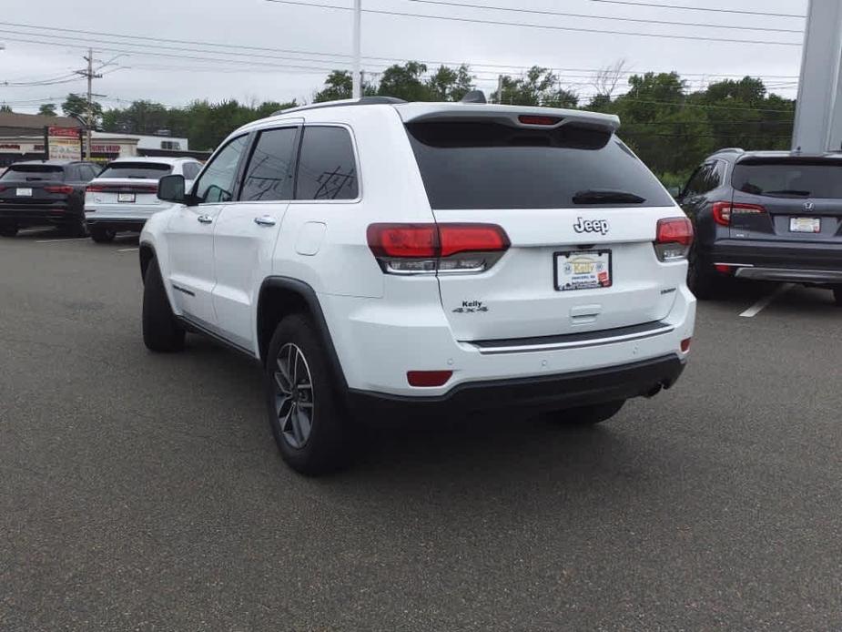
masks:
<instances>
[{"instance_id":1,"label":"dark grey asphalt parking lot pavement beneath the cars","mask_svg":"<svg viewBox=\"0 0 842 632\"><path fill-rule=\"evenodd\" d=\"M137 240L0 240L4 631L842 627L827 291L702 304L682 381L598 429L396 423L319 480L257 364L148 353L140 299Z\"/></svg>"}]
</instances>

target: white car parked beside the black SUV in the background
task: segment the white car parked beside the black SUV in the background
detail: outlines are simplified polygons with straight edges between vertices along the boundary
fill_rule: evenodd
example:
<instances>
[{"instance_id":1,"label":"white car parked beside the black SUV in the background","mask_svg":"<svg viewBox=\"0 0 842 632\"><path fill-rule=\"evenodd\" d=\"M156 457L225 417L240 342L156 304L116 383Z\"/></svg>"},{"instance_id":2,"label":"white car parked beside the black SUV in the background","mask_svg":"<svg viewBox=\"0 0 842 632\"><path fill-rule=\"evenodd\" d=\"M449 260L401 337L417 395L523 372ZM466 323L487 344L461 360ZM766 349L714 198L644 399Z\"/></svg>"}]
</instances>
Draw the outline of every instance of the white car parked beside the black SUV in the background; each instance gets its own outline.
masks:
<instances>
[{"instance_id":1,"label":"white car parked beside the black SUV in the background","mask_svg":"<svg viewBox=\"0 0 842 632\"><path fill-rule=\"evenodd\" d=\"M117 232L140 232L153 213L168 202L157 197L158 179L184 176L191 182L201 163L195 158L117 158L88 184L85 221L97 243L114 240Z\"/></svg>"}]
</instances>

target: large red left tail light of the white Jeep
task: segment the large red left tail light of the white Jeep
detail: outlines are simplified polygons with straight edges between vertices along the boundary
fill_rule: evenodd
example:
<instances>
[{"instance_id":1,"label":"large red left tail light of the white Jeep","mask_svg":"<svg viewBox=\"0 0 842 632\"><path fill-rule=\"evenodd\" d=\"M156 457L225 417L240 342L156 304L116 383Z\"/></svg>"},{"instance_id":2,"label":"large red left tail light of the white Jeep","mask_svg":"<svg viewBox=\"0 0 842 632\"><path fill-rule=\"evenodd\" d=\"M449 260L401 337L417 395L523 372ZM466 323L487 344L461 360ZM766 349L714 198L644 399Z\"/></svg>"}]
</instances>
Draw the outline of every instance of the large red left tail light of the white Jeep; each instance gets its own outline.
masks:
<instances>
[{"instance_id":1,"label":"large red left tail light of the white Jeep","mask_svg":"<svg viewBox=\"0 0 842 632\"><path fill-rule=\"evenodd\" d=\"M494 224L371 224L367 236L387 274L483 272L511 245Z\"/></svg>"}]
</instances>

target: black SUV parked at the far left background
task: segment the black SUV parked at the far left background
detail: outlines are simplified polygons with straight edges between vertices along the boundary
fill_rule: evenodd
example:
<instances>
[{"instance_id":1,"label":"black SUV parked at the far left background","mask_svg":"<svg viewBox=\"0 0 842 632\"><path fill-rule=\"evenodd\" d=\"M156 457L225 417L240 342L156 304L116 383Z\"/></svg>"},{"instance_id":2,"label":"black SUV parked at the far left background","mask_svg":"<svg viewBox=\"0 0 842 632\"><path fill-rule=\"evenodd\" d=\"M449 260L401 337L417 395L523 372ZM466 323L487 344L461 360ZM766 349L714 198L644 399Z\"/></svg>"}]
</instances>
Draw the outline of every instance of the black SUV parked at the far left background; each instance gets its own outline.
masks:
<instances>
[{"instance_id":1,"label":"black SUV parked at the far left background","mask_svg":"<svg viewBox=\"0 0 842 632\"><path fill-rule=\"evenodd\" d=\"M85 227L85 187L101 169L91 162L18 162L0 176L0 235L59 226L78 236Z\"/></svg>"}]
</instances>

